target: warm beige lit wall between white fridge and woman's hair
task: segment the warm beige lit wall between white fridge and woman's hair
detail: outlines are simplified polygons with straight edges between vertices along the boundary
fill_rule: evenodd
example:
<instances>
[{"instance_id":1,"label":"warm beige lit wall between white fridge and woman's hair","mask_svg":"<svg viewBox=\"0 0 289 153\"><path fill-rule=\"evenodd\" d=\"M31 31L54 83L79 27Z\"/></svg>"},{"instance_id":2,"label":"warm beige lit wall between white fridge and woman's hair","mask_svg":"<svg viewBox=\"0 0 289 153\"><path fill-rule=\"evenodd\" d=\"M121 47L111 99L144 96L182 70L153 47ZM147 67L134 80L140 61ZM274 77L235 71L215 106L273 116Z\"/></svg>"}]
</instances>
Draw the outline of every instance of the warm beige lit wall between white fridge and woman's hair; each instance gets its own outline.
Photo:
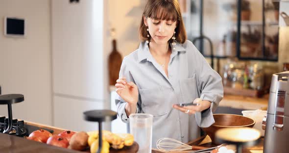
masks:
<instances>
[{"instance_id":1,"label":"warm beige lit wall between white fridge and woman's hair","mask_svg":"<svg viewBox=\"0 0 289 153\"><path fill-rule=\"evenodd\" d=\"M139 48L138 28L146 0L107 0L108 26L116 29L118 51L126 56ZM110 37L111 38L111 37ZM109 52L112 44L109 44Z\"/></svg>"}]
</instances>

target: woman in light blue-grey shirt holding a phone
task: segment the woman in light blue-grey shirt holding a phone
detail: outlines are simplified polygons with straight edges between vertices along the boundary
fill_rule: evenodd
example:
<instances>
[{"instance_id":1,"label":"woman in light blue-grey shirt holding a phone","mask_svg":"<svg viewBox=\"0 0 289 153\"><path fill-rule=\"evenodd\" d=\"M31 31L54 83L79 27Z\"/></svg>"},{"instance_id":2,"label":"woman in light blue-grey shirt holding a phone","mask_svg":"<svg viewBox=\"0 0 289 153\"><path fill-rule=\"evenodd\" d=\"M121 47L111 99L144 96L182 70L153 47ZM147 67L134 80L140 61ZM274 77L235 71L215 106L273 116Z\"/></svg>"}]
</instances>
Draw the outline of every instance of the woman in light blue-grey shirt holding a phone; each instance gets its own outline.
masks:
<instances>
[{"instance_id":1,"label":"woman in light blue-grey shirt holding a phone","mask_svg":"<svg viewBox=\"0 0 289 153\"><path fill-rule=\"evenodd\" d=\"M163 137L196 139L199 127L215 122L212 112L223 98L221 77L186 40L177 0L148 0L139 34L142 43L123 59L115 85L118 115L129 122L131 113L152 114L152 147ZM175 105L197 98L198 106Z\"/></svg>"}]
</instances>

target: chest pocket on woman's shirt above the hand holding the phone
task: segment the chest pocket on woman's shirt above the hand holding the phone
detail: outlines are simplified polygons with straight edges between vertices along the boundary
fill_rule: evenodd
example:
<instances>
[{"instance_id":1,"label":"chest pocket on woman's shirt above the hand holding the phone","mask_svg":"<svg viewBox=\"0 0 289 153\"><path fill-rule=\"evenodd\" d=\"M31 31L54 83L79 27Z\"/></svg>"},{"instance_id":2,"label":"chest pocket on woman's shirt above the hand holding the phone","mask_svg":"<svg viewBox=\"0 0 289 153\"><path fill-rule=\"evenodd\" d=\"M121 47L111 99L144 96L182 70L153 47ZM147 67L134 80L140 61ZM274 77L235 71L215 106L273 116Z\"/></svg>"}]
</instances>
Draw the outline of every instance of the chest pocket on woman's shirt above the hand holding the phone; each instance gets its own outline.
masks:
<instances>
[{"instance_id":1,"label":"chest pocket on woman's shirt above the hand holding the phone","mask_svg":"<svg viewBox=\"0 0 289 153\"><path fill-rule=\"evenodd\" d=\"M179 83L183 103L193 102L194 99L199 98L195 76L180 79Z\"/></svg>"}]
</instances>

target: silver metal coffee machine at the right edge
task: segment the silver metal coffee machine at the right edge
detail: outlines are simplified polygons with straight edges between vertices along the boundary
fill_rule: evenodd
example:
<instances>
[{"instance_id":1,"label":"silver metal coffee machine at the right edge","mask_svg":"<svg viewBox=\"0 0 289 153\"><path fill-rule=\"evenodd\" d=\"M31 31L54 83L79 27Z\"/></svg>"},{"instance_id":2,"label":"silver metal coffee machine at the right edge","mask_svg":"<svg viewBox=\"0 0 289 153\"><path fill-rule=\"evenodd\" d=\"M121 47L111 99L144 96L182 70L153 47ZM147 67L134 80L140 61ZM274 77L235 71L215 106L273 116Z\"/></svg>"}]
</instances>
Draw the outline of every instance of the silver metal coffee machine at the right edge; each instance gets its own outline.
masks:
<instances>
[{"instance_id":1,"label":"silver metal coffee machine at the right edge","mask_svg":"<svg viewBox=\"0 0 289 153\"><path fill-rule=\"evenodd\" d=\"M289 153L289 71L273 74L263 120L264 153Z\"/></svg>"}]
</instances>

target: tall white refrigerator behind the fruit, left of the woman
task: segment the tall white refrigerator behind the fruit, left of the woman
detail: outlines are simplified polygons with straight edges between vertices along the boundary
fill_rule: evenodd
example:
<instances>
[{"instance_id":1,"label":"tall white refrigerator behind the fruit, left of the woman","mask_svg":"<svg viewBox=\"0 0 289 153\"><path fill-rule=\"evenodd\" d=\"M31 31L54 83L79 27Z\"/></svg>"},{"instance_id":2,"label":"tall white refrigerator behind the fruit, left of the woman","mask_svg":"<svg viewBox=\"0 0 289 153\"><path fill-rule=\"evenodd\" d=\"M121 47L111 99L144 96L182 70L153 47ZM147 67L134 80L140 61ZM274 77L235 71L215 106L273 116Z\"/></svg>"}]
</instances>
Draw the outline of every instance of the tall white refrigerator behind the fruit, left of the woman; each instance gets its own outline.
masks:
<instances>
[{"instance_id":1,"label":"tall white refrigerator behind the fruit, left of the woman","mask_svg":"<svg viewBox=\"0 0 289 153\"><path fill-rule=\"evenodd\" d=\"M53 125L96 130L83 112L108 108L104 1L52 0ZM108 104L106 104L106 103Z\"/></svg>"}]
</instances>

